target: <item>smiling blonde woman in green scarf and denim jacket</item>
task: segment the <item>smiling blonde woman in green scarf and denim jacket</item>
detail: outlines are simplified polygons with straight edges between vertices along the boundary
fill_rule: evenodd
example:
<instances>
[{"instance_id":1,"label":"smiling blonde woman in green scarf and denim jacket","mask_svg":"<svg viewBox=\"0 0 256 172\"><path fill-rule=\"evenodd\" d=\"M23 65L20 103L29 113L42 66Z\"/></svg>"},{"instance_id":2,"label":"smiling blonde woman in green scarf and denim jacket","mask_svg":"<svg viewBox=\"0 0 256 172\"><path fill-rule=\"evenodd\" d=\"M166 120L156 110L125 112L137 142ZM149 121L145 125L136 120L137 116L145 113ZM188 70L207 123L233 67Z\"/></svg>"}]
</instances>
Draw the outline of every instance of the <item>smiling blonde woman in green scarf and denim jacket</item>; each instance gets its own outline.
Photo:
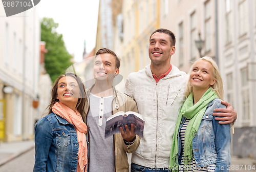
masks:
<instances>
[{"instance_id":1,"label":"smiling blonde woman in green scarf and denim jacket","mask_svg":"<svg viewBox=\"0 0 256 172\"><path fill-rule=\"evenodd\" d=\"M170 167L173 171L228 171L230 125L219 124L214 109L221 103L223 85L218 66L210 57L198 59L190 69L187 99L173 137Z\"/></svg>"}]
</instances>

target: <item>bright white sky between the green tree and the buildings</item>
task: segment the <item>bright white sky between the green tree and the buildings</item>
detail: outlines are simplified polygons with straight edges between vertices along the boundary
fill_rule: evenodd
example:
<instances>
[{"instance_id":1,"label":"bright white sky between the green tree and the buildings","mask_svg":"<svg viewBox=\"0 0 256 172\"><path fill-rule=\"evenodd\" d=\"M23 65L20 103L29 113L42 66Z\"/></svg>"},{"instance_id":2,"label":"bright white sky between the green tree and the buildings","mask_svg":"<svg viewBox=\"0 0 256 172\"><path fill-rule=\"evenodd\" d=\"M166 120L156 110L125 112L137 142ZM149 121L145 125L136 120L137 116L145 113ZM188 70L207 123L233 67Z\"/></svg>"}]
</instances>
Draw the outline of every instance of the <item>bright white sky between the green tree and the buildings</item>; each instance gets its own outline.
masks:
<instances>
[{"instance_id":1,"label":"bright white sky between the green tree and the buildings","mask_svg":"<svg viewBox=\"0 0 256 172\"><path fill-rule=\"evenodd\" d=\"M82 60L84 40L86 51L95 47L99 0L41 0L39 17L51 17L58 23L57 32L63 35L66 48L75 61Z\"/></svg>"}]
</instances>

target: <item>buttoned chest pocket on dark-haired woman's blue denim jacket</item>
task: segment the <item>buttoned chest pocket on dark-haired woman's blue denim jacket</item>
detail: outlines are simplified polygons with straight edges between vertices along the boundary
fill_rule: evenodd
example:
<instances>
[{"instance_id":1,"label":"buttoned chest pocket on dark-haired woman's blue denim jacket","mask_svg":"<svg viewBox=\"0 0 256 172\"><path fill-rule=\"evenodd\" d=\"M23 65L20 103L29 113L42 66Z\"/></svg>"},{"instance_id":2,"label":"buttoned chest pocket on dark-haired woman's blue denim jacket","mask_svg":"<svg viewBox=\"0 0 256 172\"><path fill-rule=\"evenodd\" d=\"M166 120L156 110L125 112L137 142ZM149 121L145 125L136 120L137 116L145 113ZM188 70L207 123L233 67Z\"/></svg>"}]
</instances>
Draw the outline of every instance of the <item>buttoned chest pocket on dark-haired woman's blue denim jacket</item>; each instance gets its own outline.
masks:
<instances>
[{"instance_id":1,"label":"buttoned chest pocket on dark-haired woman's blue denim jacket","mask_svg":"<svg viewBox=\"0 0 256 172\"><path fill-rule=\"evenodd\" d=\"M70 144L70 132L68 130L56 131L56 144L60 147L66 147Z\"/></svg>"}]
</instances>

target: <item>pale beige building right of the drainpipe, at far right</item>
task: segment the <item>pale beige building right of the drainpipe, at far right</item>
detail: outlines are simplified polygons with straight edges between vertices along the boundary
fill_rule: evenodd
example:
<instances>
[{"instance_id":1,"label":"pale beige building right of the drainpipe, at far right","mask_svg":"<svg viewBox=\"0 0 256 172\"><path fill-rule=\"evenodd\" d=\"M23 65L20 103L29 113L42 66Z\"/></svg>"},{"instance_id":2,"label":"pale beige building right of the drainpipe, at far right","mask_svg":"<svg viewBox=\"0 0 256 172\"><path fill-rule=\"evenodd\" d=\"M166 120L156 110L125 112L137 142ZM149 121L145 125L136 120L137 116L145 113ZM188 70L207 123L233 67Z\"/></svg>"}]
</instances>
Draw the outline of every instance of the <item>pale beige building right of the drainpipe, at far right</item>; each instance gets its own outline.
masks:
<instances>
[{"instance_id":1,"label":"pale beige building right of the drainpipe, at far right","mask_svg":"<svg viewBox=\"0 0 256 172\"><path fill-rule=\"evenodd\" d=\"M256 159L256 1L218 2L225 99L238 112L233 155Z\"/></svg>"}]
</instances>

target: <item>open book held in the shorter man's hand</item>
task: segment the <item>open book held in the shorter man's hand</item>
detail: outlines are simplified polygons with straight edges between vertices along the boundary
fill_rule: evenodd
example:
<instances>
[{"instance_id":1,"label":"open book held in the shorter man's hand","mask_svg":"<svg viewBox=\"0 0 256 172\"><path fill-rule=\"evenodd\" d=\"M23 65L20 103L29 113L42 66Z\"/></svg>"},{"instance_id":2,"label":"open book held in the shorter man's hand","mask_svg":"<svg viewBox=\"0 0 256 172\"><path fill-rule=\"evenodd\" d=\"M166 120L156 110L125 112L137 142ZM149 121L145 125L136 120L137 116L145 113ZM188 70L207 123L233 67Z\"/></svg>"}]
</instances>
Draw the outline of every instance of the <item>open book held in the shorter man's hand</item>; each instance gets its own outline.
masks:
<instances>
[{"instance_id":1,"label":"open book held in the shorter man's hand","mask_svg":"<svg viewBox=\"0 0 256 172\"><path fill-rule=\"evenodd\" d=\"M145 121L142 119L142 116L132 111L125 113L123 111L120 111L110 116L106 120L105 139L112 136L113 134L121 133L120 126L123 128L124 132L124 125L127 125L129 127L129 130L131 130L132 123L134 124L134 133L143 138Z\"/></svg>"}]
</instances>

